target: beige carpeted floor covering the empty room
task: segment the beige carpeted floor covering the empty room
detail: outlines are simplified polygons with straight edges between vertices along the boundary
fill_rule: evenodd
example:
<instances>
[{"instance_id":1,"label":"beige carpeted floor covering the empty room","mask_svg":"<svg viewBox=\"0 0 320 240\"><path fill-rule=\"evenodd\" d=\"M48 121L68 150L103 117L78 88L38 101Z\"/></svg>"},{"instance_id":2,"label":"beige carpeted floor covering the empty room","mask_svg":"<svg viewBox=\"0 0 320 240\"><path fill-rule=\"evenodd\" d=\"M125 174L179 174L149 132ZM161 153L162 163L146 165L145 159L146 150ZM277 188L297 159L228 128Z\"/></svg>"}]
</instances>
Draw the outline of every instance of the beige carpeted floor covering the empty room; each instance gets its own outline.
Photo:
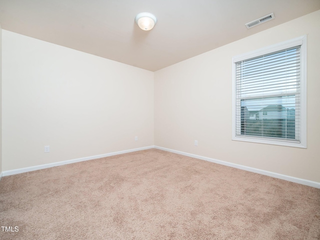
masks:
<instances>
[{"instance_id":1,"label":"beige carpeted floor covering the empty room","mask_svg":"<svg viewBox=\"0 0 320 240\"><path fill-rule=\"evenodd\" d=\"M0 224L0 239L320 239L320 189L148 149L4 176Z\"/></svg>"}]
</instances>

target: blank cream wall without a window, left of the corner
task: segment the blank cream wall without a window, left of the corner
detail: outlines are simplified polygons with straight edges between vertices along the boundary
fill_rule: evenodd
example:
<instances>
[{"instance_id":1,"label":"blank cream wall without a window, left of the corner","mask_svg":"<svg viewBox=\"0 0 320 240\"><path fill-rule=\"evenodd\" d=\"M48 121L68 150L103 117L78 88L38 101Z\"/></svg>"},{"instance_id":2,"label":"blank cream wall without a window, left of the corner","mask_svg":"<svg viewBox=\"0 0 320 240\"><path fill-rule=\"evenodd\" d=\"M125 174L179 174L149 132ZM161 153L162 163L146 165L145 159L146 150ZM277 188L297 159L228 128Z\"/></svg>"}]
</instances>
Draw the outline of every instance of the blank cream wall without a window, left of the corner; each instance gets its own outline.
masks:
<instances>
[{"instance_id":1,"label":"blank cream wall without a window, left of the corner","mask_svg":"<svg viewBox=\"0 0 320 240\"><path fill-rule=\"evenodd\" d=\"M153 72L6 30L2 44L2 171L153 145Z\"/></svg>"}]
</instances>

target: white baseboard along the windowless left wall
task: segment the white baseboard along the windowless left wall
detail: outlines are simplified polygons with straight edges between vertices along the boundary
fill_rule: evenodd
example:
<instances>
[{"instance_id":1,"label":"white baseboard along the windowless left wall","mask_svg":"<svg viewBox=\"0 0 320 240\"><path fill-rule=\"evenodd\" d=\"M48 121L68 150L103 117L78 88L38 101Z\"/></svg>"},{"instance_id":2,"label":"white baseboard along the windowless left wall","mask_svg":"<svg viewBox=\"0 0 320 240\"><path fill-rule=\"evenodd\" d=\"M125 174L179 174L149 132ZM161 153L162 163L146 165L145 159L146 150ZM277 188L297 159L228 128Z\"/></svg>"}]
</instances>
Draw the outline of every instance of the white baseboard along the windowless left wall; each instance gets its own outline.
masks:
<instances>
[{"instance_id":1,"label":"white baseboard along the windowless left wall","mask_svg":"<svg viewBox=\"0 0 320 240\"><path fill-rule=\"evenodd\" d=\"M128 152L132 152L132 151L140 151L140 150L145 150L145 149L150 149L150 148L154 148L154 146L145 146L145 147L139 147L139 148L134 148L134 149L129 149L129 150L115 151L115 152L110 152L110 153L105 153L105 154L100 154L100 155L81 157L81 158L76 158L76 159L71 159L71 160L52 162L52 163L43 164L43 165L23 167L23 168L18 168L18 169L13 169L13 170L2 171L0 176L2 176L2 175L8 176L8 175L18 174L18 173L22 173L22 172L27 172L27 171L35 171L35 170L48 168L48 167L52 167L52 166L60 166L60 165L74 163L74 162L87 161L87 160L92 160L92 159L96 159L96 158L113 156L113 155L128 153Z\"/></svg>"}]
</instances>

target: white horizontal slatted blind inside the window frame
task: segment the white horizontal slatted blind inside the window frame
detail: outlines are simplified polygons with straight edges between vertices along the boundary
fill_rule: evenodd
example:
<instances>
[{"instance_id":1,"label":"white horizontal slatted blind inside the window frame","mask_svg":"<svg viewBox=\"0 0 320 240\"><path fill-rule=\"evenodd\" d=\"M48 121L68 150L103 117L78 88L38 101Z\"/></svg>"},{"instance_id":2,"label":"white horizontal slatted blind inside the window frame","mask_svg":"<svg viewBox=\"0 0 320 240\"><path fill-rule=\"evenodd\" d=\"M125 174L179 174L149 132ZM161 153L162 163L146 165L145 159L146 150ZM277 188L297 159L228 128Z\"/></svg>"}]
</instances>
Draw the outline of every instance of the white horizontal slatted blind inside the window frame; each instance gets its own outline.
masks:
<instances>
[{"instance_id":1,"label":"white horizontal slatted blind inside the window frame","mask_svg":"<svg viewBox=\"0 0 320 240\"><path fill-rule=\"evenodd\" d=\"M300 45L235 62L235 136L300 142Z\"/></svg>"}]
</instances>

